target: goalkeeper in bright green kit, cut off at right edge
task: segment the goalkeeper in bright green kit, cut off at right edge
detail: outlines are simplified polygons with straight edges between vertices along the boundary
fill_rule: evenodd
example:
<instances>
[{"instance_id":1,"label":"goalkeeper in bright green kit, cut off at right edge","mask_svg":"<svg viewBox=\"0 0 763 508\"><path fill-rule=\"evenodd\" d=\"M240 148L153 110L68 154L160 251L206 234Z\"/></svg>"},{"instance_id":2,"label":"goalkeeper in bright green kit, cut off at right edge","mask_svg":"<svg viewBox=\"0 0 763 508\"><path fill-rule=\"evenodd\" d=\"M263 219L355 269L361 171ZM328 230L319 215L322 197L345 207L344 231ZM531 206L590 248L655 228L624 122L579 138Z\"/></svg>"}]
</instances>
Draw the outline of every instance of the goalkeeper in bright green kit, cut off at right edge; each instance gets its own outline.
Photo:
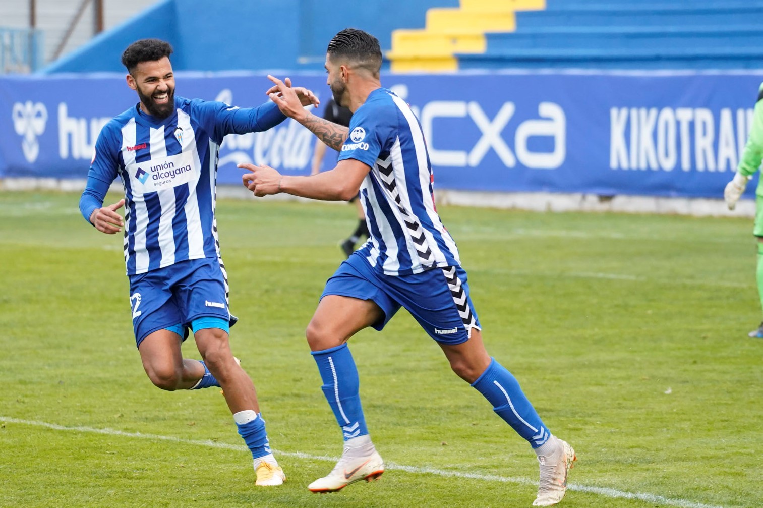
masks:
<instances>
[{"instance_id":1,"label":"goalkeeper in bright green kit, cut off at right edge","mask_svg":"<svg viewBox=\"0 0 763 508\"><path fill-rule=\"evenodd\" d=\"M726 190L723 191L723 198L729 205L729 210L734 209L739 196L745 191L750 176L760 168L761 159L763 159L763 83L758 89L758 102L755 104L752 128L745 151L742 153L742 160L736 168L736 175L726 184ZM763 178L758 178L758 188L755 191L755 227L752 234L758 237L758 294L763 305ZM763 322L757 330L752 330L749 336L754 339L763 339Z\"/></svg>"}]
</instances>

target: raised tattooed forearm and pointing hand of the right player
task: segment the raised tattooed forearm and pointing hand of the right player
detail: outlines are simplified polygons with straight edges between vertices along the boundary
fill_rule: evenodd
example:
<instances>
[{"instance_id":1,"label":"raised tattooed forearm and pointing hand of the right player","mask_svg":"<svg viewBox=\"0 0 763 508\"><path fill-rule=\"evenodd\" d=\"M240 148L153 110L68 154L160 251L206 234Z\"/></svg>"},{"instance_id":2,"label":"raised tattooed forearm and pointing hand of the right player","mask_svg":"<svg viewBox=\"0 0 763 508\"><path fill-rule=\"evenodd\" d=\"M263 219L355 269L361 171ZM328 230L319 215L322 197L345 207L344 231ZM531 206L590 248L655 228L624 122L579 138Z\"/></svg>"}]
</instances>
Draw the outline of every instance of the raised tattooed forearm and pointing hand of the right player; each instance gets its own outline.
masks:
<instances>
[{"instance_id":1,"label":"raised tattooed forearm and pointing hand of the right player","mask_svg":"<svg viewBox=\"0 0 763 508\"><path fill-rule=\"evenodd\" d=\"M268 76L275 83L268 89L266 94L278 105L278 109L287 117L294 118L314 133L319 140L323 141L337 152L342 150L342 145L347 139L349 129L340 124L334 124L324 118L317 117L310 111L305 111L297 95L297 88L291 88L291 80L286 78L282 82L275 76Z\"/></svg>"}]
</instances>

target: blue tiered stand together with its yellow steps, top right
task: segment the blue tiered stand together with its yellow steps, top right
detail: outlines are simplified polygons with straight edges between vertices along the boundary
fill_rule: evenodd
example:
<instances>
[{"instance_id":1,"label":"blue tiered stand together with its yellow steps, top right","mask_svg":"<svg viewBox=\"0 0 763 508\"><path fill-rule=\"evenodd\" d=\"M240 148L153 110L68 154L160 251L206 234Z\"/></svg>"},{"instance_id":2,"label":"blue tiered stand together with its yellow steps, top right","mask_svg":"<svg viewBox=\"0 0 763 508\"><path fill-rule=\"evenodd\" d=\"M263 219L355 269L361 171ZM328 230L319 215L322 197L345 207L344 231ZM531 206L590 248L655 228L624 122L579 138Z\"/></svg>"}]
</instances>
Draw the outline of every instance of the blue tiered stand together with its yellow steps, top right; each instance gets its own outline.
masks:
<instances>
[{"instance_id":1,"label":"blue tiered stand together with its yellow steps, top right","mask_svg":"<svg viewBox=\"0 0 763 508\"><path fill-rule=\"evenodd\" d=\"M395 31L388 57L397 71L757 69L761 14L761 0L463 0Z\"/></svg>"}]
</instances>

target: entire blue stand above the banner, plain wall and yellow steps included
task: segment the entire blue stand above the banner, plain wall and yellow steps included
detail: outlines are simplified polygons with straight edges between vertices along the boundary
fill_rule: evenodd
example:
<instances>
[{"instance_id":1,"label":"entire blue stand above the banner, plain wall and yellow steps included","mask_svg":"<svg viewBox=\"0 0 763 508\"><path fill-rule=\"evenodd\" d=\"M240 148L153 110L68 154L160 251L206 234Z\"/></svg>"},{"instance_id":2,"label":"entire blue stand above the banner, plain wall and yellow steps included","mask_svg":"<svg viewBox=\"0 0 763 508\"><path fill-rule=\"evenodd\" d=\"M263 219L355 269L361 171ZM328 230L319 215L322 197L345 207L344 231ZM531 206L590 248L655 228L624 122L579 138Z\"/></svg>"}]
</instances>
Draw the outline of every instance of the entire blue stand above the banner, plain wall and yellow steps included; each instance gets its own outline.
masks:
<instances>
[{"instance_id":1,"label":"entire blue stand above the banner, plain wall and yellow steps included","mask_svg":"<svg viewBox=\"0 0 763 508\"><path fill-rule=\"evenodd\" d=\"M150 5L43 72L119 71L118 49L138 37L185 48L177 70L317 70L326 41L348 26L377 35L393 72L763 67L763 0L388 0L362 9L353 0L330 9L284 0L285 11L298 13L289 18L273 18L266 2ZM270 22L256 31L209 30L230 18Z\"/></svg>"}]
</instances>

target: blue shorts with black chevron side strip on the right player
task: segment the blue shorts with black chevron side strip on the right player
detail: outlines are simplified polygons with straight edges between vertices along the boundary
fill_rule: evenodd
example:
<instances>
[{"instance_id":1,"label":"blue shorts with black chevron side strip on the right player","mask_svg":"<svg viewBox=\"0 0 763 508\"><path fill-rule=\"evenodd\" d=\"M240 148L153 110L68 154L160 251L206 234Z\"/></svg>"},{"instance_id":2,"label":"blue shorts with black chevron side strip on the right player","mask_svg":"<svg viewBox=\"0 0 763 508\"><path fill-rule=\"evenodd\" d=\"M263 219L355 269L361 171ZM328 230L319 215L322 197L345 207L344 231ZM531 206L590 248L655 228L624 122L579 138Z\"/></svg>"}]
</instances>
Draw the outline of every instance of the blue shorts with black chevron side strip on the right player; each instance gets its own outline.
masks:
<instances>
[{"instance_id":1,"label":"blue shorts with black chevron side strip on the right player","mask_svg":"<svg viewBox=\"0 0 763 508\"><path fill-rule=\"evenodd\" d=\"M326 283L324 293L371 300L384 317L372 326L376 330L404 307L437 342L466 342L472 328L481 330L466 272L460 266L433 268L412 275L384 275L371 267L359 251L343 261Z\"/></svg>"}]
</instances>

